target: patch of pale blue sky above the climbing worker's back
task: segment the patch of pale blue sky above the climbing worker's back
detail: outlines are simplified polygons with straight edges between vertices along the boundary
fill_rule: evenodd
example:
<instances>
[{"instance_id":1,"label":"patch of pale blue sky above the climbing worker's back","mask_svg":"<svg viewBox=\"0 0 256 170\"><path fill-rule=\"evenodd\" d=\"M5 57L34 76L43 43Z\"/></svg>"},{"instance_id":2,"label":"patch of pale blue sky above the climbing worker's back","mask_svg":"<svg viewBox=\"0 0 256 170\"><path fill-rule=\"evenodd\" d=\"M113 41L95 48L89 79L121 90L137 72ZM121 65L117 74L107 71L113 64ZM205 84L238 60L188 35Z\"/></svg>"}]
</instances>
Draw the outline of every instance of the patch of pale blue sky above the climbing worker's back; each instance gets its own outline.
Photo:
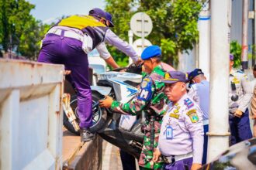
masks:
<instances>
[{"instance_id":1,"label":"patch of pale blue sky above the climbing worker's back","mask_svg":"<svg viewBox=\"0 0 256 170\"><path fill-rule=\"evenodd\" d=\"M36 8L31 14L38 20L50 22L62 15L87 15L92 8L104 8L104 0L27 0Z\"/></svg>"}]
</instances>

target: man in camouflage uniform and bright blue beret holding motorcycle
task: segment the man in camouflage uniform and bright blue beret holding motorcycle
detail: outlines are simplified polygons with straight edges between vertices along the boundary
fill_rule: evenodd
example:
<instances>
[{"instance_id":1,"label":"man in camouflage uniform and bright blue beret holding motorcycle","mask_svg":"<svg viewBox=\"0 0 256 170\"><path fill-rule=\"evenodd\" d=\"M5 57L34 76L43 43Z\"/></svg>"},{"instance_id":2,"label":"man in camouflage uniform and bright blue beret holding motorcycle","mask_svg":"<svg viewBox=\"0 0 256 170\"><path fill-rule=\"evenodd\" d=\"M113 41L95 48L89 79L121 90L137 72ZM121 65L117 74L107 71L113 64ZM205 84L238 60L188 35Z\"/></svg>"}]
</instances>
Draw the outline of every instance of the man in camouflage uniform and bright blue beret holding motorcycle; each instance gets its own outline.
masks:
<instances>
[{"instance_id":1,"label":"man in camouflage uniform and bright blue beret holding motorcycle","mask_svg":"<svg viewBox=\"0 0 256 170\"><path fill-rule=\"evenodd\" d=\"M141 169L160 169L163 165L161 158L153 162L154 148L158 145L158 136L161 128L163 106L167 97L164 95L164 69L161 66L161 49L159 46L148 46L141 54L144 60L144 69L147 76L140 83L140 92L130 102L122 104L111 97L100 100L100 107L111 107L120 114L140 114L144 110L146 123L144 126L144 144L140 154L139 165ZM152 127L152 128L151 128ZM151 131L151 132L150 132ZM154 133L152 133L154 131ZM154 135L154 144L150 136ZM153 147L152 147L153 146Z\"/></svg>"}]
</instances>

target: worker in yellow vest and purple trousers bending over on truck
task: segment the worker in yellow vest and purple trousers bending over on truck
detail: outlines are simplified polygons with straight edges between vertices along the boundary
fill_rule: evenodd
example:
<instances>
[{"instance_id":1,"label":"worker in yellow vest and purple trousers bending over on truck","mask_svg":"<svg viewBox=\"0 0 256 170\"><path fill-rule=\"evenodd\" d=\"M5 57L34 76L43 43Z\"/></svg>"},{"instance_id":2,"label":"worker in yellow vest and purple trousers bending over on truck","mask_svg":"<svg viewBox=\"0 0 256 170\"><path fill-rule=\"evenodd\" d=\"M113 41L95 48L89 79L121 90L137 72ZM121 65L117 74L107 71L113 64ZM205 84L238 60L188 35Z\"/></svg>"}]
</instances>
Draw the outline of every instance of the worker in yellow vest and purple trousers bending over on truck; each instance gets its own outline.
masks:
<instances>
[{"instance_id":1,"label":"worker in yellow vest and purple trousers bending over on truck","mask_svg":"<svg viewBox=\"0 0 256 170\"><path fill-rule=\"evenodd\" d=\"M71 15L47 32L40 49L39 62L64 64L65 70L71 70L71 79L78 91L81 141L94 138L89 131L92 125L92 91L88 81L88 53L97 48L107 63L113 63L104 44L109 42L133 61L138 60L133 48L110 31L111 26L112 21L107 21L106 12L100 8L93 8L89 15Z\"/></svg>"}]
</instances>

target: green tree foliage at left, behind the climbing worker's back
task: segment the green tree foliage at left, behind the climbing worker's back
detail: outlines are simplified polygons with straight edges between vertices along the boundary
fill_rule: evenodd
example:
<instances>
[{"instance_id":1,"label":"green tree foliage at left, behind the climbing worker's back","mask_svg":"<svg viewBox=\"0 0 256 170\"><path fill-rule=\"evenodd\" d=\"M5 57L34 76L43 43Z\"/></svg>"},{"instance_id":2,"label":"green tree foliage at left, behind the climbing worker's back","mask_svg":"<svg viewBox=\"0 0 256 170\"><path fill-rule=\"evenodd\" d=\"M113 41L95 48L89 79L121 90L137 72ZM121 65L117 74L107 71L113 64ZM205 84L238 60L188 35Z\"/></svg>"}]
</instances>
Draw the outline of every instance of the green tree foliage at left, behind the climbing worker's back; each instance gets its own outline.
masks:
<instances>
[{"instance_id":1,"label":"green tree foliage at left, behind the climbing worker's back","mask_svg":"<svg viewBox=\"0 0 256 170\"><path fill-rule=\"evenodd\" d=\"M12 49L30 59L36 58L40 39L49 26L30 15L33 8L35 5L26 0L0 0L0 44L5 52Z\"/></svg>"}]
</instances>

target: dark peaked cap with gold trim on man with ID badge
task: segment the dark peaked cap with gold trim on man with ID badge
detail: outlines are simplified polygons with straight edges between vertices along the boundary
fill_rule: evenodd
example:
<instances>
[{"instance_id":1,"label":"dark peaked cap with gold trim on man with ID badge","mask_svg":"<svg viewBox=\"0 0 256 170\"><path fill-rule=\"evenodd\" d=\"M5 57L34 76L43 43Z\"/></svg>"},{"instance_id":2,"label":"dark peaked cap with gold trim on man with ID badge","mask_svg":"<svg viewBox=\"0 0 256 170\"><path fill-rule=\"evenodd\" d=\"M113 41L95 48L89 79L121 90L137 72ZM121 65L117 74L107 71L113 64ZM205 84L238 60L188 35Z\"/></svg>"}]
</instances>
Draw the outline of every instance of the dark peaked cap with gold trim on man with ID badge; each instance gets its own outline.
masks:
<instances>
[{"instance_id":1,"label":"dark peaked cap with gold trim on man with ID badge","mask_svg":"<svg viewBox=\"0 0 256 170\"><path fill-rule=\"evenodd\" d=\"M164 83L186 82L185 73L181 71L168 71L164 74Z\"/></svg>"}]
</instances>

